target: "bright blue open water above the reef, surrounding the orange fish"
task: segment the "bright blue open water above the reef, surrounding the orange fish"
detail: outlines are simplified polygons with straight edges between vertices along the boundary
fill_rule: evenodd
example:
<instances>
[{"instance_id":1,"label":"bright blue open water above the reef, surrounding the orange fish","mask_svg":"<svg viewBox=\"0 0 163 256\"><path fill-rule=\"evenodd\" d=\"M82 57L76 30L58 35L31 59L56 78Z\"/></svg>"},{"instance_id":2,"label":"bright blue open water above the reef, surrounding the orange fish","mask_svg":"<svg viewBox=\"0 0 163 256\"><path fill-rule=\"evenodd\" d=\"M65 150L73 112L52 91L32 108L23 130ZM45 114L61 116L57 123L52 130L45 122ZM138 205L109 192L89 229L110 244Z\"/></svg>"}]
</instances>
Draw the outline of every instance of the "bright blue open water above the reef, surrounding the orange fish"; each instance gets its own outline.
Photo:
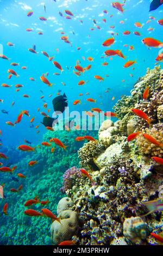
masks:
<instances>
[{"instance_id":1,"label":"bright blue open water above the reef, surrounding the orange fish","mask_svg":"<svg viewBox=\"0 0 163 256\"><path fill-rule=\"evenodd\" d=\"M93 0L28 0L28 1L0 1L0 43L3 46L3 54L10 58L5 60L0 58L0 84L7 83L12 85L10 88L1 87L0 99L0 130L3 136L2 143L4 148L16 148L20 144L24 144L24 138L31 141L33 144L42 142L42 136L47 132L45 126L40 124L43 116L41 111L47 113L47 109L51 108L48 113L53 114L52 100L57 96L58 90L66 93L68 98L68 106L70 111L89 111L92 107L99 107L103 111L113 111L112 107L117 100L121 99L121 95L129 95L133 84L137 79L143 76L147 68L153 68L155 65L155 58L158 56L159 49L151 48L143 45L141 40L148 36L158 39L162 38L162 28L158 24L158 20L163 18L162 6L149 13L149 1L142 0L140 2L135 0L126 1L124 5L124 13L120 13L117 9L111 6L111 0L93 1ZM46 12L43 5L46 6ZM65 18L65 9L71 10L74 14L71 20ZM103 10L108 10L105 14ZM30 17L27 12L33 10L34 14ZM61 12L64 17L61 17L58 12ZM110 17L110 15L113 15ZM39 20L39 16L44 16L47 21ZM151 22L146 23L150 18ZM98 29L93 23L96 19L97 25L101 27ZM103 19L106 19L104 23ZM80 22L80 20L83 21ZM120 21L124 21L123 24ZM135 22L141 22L142 28L135 27ZM115 26L115 28L110 28ZM153 31L148 31L152 27ZM27 28L32 28L32 32L27 32ZM93 31L90 28L94 28ZM130 35L123 35L123 32L129 30ZM37 34L41 31L43 35ZM66 44L60 39L61 31L68 35L68 40L71 44ZM133 34L134 31L139 31L141 36ZM103 47L102 43L114 32L115 43L110 47ZM118 33L118 35L116 35ZM14 47L7 45L7 42L15 44ZM124 46L127 44L128 46ZM36 45L37 54L28 51ZM129 51L129 45L134 46L133 51ZM77 47L81 47L77 50ZM56 49L59 49L57 51ZM118 56L101 58L104 56L104 51L107 49L121 50L126 59ZM59 72L53 62L49 62L41 51L46 51L49 56L54 56L53 60L59 62L64 69L61 75L53 75L54 72ZM93 62L89 62L87 57L92 57ZM85 57L85 60L82 58ZM127 60L137 59L137 64L130 68L123 68ZM80 77L73 74L74 66L77 60L80 60L80 65L83 67L91 64L90 70L85 71ZM102 63L107 61L108 66L103 66ZM20 63L19 66L11 66L11 62ZM159 63L162 65L162 63ZM27 66L26 70L21 69L22 66ZM67 67L68 69L67 69ZM133 70L133 67L135 68ZM8 69L14 69L18 75L12 76L8 80ZM76 70L77 71L77 70ZM48 80L55 83L52 87L48 87L40 80L43 73L48 72ZM131 75L133 75L131 77ZM95 75L105 77L104 81L99 82L94 78ZM106 77L105 75L109 75ZM29 77L35 78L35 81L30 81ZM83 86L78 86L80 80L88 81ZM125 82L122 82L125 80ZM64 86L61 82L64 82ZM19 92L16 92L15 84L23 84ZM105 90L110 88L108 93ZM42 90L42 92L40 92ZM87 92L90 95L85 95ZM83 93L83 96L79 96ZM29 98L22 95L28 94ZM52 94L52 97L48 97ZM44 95L43 99L40 97ZM112 97L115 99L112 100ZM96 103L87 102L87 97L96 99ZM81 104L73 105L74 100L81 99ZM15 101L15 105L11 103ZM47 103L47 109L43 108L43 103ZM37 111L40 108L40 111ZM8 111L8 114L1 112L2 109ZM30 118L35 117L34 126L40 125L38 129L30 128L30 118L23 115L23 118L16 126L9 126L5 124L6 121L14 121L17 115L24 109L27 109ZM36 133L39 130L40 133ZM3 149L3 148L2 148ZM16 159L17 157L17 159ZM21 153L12 156L12 163L21 160ZM68 168L68 167L67 167ZM7 180L5 180L7 182ZM0 184L3 183L2 176ZM30 183L30 182L29 182ZM16 242L15 242L16 243Z\"/></svg>"}]
</instances>

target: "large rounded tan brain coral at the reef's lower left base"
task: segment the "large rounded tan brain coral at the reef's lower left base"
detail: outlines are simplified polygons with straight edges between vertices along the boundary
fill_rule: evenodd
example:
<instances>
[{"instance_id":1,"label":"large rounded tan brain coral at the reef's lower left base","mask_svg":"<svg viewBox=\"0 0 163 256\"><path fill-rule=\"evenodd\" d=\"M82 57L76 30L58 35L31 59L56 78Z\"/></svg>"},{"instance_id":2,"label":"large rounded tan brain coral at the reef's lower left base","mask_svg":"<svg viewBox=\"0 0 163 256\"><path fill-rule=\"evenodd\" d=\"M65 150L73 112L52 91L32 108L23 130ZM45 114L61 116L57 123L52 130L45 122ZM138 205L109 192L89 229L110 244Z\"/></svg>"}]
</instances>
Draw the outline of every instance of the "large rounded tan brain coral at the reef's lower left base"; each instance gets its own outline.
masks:
<instances>
[{"instance_id":1,"label":"large rounded tan brain coral at the reef's lower left base","mask_svg":"<svg viewBox=\"0 0 163 256\"><path fill-rule=\"evenodd\" d=\"M51 236L53 245L70 240L78 227L78 214L75 211L61 211L60 222L54 221L51 225Z\"/></svg>"}]
</instances>

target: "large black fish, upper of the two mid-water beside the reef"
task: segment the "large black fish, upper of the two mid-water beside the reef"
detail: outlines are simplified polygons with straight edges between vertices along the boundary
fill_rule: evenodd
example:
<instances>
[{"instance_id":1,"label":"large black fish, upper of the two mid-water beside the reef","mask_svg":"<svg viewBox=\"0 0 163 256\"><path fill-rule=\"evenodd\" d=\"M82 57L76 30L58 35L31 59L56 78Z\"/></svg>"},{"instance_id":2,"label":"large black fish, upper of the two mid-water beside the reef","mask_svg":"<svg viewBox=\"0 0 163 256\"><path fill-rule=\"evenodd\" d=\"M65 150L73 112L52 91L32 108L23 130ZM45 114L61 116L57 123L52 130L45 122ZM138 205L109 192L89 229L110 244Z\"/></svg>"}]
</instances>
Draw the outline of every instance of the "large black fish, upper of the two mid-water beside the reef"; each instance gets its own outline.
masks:
<instances>
[{"instance_id":1,"label":"large black fish, upper of the two mid-water beside the reef","mask_svg":"<svg viewBox=\"0 0 163 256\"><path fill-rule=\"evenodd\" d=\"M65 107L68 106L67 97L65 93L64 95L59 95L55 97L52 102L54 111L60 111L61 113L63 113L65 111Z\"/></svg>"}]
</instances>

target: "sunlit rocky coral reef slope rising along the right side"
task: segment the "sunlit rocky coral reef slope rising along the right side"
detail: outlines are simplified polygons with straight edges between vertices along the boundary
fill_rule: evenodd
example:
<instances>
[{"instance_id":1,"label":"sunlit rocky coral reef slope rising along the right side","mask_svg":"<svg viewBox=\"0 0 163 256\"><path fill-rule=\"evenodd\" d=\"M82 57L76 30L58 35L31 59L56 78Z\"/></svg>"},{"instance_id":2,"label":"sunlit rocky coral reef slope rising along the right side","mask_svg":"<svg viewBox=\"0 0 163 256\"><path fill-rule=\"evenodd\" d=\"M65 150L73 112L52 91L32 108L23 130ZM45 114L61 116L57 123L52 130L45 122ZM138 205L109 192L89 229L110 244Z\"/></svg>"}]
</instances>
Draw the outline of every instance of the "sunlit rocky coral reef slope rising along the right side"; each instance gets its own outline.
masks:
<instances>
[{"instance_id":1,"label":"sunlit rocky coral reef slope rising along the right side","mask_svg":"<svg viewBox=\"0 0 163 256\"><path fill-rule=\"evenodd\" d=\"M142 95L147 87L145 100ZM163 70L156 66L135 83L130 96L122 96L116 103L119 120L105 120L98 142L87 142L79 149L80 167L95 181L74 175L73 185L65 190L73 202L72 210L83 220L71 237L79 245L158 244L151 232L162 231L162 211L148 215L144 203L162 198L163 167L151 157L163 158L163 149L142 133L163 143L162 102ZM134 115L131 108L145 112L153 119L151 124ZM140 134L127 141L136 131Z\"/></svg>"}]
</instances>

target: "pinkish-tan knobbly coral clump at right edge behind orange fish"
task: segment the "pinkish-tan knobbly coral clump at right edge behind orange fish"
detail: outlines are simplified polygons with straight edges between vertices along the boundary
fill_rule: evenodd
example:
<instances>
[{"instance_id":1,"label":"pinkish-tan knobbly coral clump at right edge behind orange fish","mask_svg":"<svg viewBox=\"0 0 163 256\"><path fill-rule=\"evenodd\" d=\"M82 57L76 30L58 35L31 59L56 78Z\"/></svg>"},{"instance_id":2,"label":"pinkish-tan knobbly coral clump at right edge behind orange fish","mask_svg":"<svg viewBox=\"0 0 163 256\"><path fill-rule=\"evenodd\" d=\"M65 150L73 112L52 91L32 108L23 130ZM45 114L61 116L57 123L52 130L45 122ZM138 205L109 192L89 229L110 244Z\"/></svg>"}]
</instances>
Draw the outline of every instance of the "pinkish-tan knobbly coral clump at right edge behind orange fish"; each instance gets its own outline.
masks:
<instances>
[{"instance_id":1,"label":"pinkish-tan knobbly coral clump at right edge behind orange fish","mask_svg":"<svg viewBox=\"0 0 163 256\"><path fill-rule=\"evenodd\" d=\"M152 129L145 128L142 130L142 132L151 135L157 141L163 143L163 124L160 123L153 125ZM136 144L138 145L139 151L142 155L147 155L149 157L163 156L163 149L147 141L147 139L145 139L142 135L137 137Z\"/></svg>"}]
</instances>

